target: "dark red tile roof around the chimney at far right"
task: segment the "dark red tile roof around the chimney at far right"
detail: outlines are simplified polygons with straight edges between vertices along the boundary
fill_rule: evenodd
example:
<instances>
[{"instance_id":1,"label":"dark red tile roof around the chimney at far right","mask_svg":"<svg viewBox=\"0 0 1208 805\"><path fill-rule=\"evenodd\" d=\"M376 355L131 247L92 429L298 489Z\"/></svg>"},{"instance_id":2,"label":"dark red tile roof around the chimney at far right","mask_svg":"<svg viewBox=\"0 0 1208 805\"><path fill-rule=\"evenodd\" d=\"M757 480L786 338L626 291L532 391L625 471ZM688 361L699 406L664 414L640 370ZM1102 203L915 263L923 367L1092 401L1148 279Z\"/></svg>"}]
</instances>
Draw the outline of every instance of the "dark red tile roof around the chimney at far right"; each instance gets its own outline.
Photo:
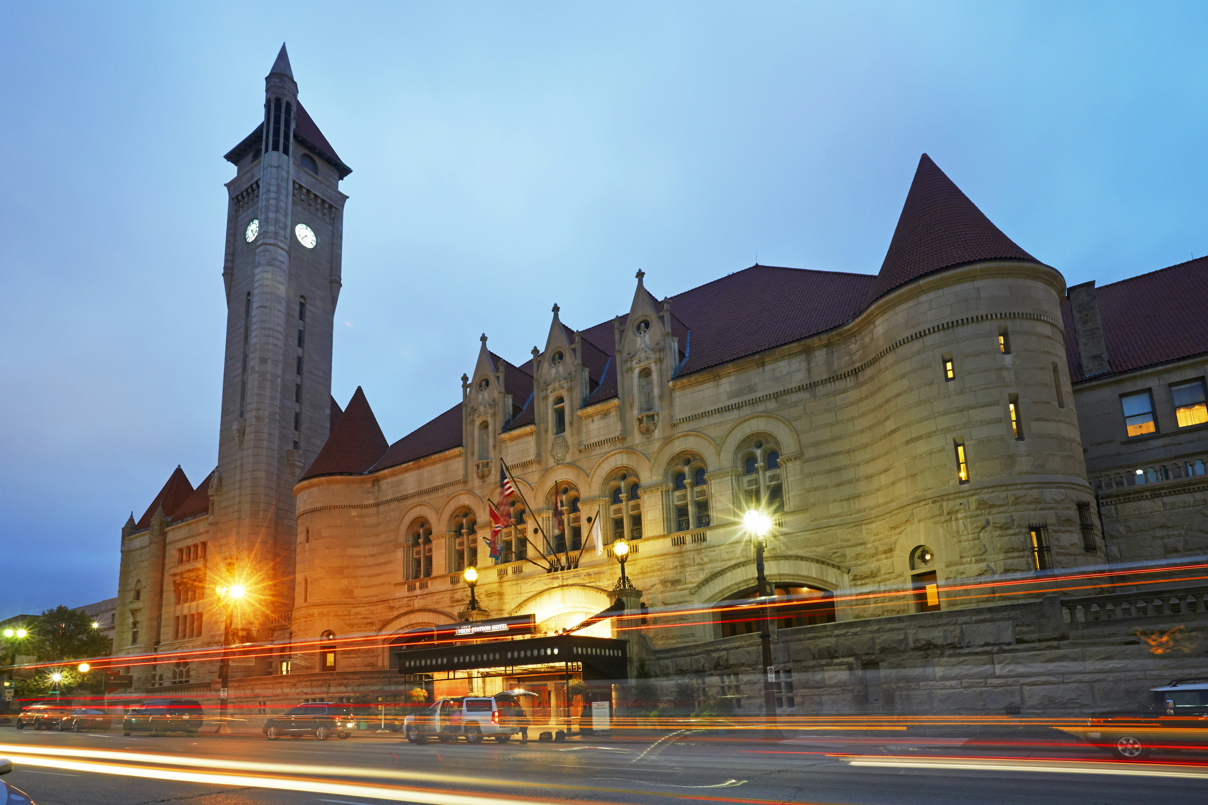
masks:
<instances>
[{"instance_id":1,"label":"dark red tile roof around the chimney at far right","mask_svg":"<svg viewBox=\"0 0 1208 805\"><path fill-rule=\"evenodd\" d=\"M1096 288L1111 373L1208 352L1208 257ZM1084 379L1069 301L1062 302L1071 383ZM1107 377L1094 375L1096 379Z\"/></svg>"}]
</instances>

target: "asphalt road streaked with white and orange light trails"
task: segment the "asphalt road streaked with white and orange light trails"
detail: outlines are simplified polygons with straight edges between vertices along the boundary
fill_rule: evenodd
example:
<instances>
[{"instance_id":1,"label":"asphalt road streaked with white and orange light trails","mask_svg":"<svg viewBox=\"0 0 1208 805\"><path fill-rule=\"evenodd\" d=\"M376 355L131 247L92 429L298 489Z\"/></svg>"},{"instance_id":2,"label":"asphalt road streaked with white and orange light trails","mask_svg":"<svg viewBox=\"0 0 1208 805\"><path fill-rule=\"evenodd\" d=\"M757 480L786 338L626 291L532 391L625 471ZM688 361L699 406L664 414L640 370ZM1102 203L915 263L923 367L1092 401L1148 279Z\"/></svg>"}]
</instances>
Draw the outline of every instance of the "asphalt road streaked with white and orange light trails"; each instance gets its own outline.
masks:
<instances>
[{"instance_id":1,"label":"asphalt road streaked with white and orange light trails","mask_svg":"<svg viewBox=\"0 0 1208 805\"><path fill-rule=\"evenodd\" d=\"M655 739L658 740L655 740ZM122 736L0 727L4 777L36 805L308 805L383 801L1108 804L1208 800L1208 754L1113 762L1067 746L958 737L796 736L783 742L681 731L559 743L411 745L355 735Z\"/></svg>"}]
</instances>

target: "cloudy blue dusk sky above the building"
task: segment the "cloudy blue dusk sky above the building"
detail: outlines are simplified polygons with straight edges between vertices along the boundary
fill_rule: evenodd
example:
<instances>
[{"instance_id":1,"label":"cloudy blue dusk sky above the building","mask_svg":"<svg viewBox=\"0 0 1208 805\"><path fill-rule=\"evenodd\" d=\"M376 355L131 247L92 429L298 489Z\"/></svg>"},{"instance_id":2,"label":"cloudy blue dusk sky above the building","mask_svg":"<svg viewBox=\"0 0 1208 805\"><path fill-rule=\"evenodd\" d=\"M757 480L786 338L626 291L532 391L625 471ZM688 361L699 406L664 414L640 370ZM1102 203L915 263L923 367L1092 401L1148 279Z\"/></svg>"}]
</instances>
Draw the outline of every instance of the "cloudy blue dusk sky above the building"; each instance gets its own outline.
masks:
<instances>
[{"instance_id":1,"label":"cloudy blue dusk sky above the building","mask_svg":"<svg viewBox=\"0 0 1208 805\"><path fill-rule=\"evenodd\" d=\"M354 173L333 393L390 441L756 262L876 273L928 152L1069 284L1208 252L1203 4L6 4L0 617L115 595L214 467L222 154L289 42Z\"/></svg>"}]
</instances>

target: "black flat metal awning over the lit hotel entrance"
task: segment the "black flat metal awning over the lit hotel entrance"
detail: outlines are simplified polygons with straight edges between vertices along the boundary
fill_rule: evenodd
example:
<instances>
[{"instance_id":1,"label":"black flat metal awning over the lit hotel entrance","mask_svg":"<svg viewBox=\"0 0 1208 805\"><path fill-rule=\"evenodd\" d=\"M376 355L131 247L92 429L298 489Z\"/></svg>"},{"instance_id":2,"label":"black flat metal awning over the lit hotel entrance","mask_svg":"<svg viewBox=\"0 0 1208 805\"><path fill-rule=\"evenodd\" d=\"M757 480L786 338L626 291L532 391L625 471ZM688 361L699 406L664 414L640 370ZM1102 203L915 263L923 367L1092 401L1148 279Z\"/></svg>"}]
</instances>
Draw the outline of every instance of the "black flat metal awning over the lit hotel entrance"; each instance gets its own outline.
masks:
<instances>
[{"instance_id":1,"label":"black flat metal awning over the lit hotel entrance","mask_svg":"<svg viewBox=\"0 0 1208 805\"><path fill-rule=\"evenodd\" d=\"M395 652L399 673L440 673L505 669L523 673L533 665L577 663L585 679L627 679L628 641L610 637L553 635L527 640L481 641L474 644L408 648Z\"/></svg>"}]
</instances>

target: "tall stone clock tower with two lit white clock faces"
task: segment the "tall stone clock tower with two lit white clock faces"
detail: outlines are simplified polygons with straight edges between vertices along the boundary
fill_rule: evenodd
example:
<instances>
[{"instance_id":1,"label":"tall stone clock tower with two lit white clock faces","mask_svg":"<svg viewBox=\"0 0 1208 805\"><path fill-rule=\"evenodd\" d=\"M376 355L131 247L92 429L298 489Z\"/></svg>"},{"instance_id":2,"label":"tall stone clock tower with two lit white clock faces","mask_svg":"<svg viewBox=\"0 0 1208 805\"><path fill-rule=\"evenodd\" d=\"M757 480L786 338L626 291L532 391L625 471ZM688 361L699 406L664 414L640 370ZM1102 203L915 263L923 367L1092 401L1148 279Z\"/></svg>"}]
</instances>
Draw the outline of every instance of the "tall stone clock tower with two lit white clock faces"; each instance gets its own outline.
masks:
<instances>
[{"instance_id":1,"label":"tall stone clock tower with two lit white clock faces","mask_svg":"<svg viewBox=\"0 0 1208 805\"><path fill-rule=\"evenodd\" d=\"M259 626L265 640L272 617L294 606L292 488L327 439L348 198L339 181L352 173L298 103L284 45L265 78L263 122L226 158L237 175L226 186L226 357L209 572L214 584L255 590L262 617L249 623L245 612L242 625Z\"/></svg>"}]
</instances>

